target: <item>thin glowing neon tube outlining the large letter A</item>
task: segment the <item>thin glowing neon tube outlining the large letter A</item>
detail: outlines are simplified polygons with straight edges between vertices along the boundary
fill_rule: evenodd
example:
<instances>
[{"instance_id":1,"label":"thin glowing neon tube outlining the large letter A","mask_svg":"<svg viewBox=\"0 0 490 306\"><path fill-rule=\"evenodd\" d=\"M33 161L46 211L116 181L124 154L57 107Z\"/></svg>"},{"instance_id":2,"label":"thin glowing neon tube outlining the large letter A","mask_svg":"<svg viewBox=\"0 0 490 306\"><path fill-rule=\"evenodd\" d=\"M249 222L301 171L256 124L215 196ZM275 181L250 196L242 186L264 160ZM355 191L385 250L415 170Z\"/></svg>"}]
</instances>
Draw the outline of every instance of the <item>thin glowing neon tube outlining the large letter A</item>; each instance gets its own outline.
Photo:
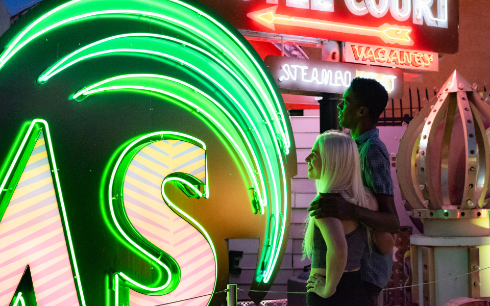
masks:
<instances>
[{"instance_id":1,"label":"thin glowing neon tube outlining the large letter A","mask_svg":"<svg viewBox=\"0 0 490 306\"><path fill-rule=\"evenodd\" d=\"M22 142L20 143L20 146L19 146L19 149L17 150L15 156L14 156L14 159L12 160L12 163L11 163L11 166L9 167L9 170L7 171L7 174L5 176L5 179L4 181L2 182L2 184L0 185L0 195L2 195L2 192L5 192L5 185L7 184L8 182L8 179L9 179L9 176L12 174L12 171L14 170L14 167L15 167L15 164L17 163L21 153L22 153L22 150L24 148L24 146L26 146L26 143L27 141L29 140L30 136L31 136L31 133L34 129L34 126L36 125L36 123L40 124L43 126L43 130L45 132L45 142L46 142L46 147L47 147L47 151L48 151L48 157L51 161L51 166L52 166L52 169L58 169L58 166L56 165L56 161L55 161L55 156L54 156L54 153L53 153L53 144L51 142L51 133L50 133L50 128L47 124L47 122L43 119L35 119L31 122L30 126L29 126L29 129L27 130L26 132L26 135L24 136L24 138L22 139ZM78 288L78 291L79 291L79 294L80 294L80 300L82 302L82 306L85 306L85 298L84 298L84 295L83 295L83 290L82 290L82 284L80 282L80 274L78 272L78 265L77 265L77 260L75 258L75 252L74 252L74 248L73 248L73 243L71 241L71 233L70 233L70 228L68 226L68 218L66 216L66 211L65 211L65 202L63 200L63 195L61 193L61 187L60 187L60 179L59 179L59 176L58 176L58 171L53 171L53 175L54 175L54 181L55 181L55 188L56 188L56 193L58 195L58 199L59 199L59 204L61 206L61 213L63 214L63 225L65 227L65 231L66 231L66 237L68 238L68 250L70 252L70 257L71 257L71 260L73 262L73 270L75 272L75 275L74 275L74 279L75 281L77 282L77 288ZM22 302L22 305L23 304L23 298L20 296L20 293L19 295L17 296L17 298L21 299L21 302ZM17 302L17 301L16 301Z\"/></svg>"}]
</instances>

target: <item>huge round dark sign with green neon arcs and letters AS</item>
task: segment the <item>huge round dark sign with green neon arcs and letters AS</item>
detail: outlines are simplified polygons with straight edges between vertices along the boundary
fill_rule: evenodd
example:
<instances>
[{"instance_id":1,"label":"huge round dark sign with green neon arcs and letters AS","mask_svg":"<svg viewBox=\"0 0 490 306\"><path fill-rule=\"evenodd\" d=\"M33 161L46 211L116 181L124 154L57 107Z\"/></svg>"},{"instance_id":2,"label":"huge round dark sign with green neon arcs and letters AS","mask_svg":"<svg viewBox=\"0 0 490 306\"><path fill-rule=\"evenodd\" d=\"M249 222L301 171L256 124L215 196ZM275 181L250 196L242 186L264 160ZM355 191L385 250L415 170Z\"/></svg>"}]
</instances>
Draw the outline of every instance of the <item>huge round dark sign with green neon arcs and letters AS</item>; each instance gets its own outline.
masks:
<instances>
[{"instance_id":1,"label":"huge round dark sign with green neon arcs and letters AS","mask_svg":"<svg viewBox=\"0 0 490 306\"><path fill-rule=\"evenodd\" d=\"M36 143L48 144L42 179L53 182L46 205L59 221L46 233L55 232L65 251L53 256L66 264L57 298L146 306L197 295L189 288L223 290L227 238L261 238L252 288L268 290L285 252L296 150L281 95L246 40L179 0L45 0L26 18L0 40L0 99L15 105L3 113L15 119L0 121L0 233L28 226L13 219L21 206L11 195L35 190L24 183L33 172L19 178L37 162ZM60 43L59 57L39 45ZM42 68L24 69L20 81L19 65ZM44 205L38 199L30 205ZM11 240L0 238L0 250L19 239ZM57 260L50 251L44 260ZM14 255L15 271L0 267L0 279L12 275L8 302L26 265L39 287L36 259Z\"/></svg>"}]
</instances>

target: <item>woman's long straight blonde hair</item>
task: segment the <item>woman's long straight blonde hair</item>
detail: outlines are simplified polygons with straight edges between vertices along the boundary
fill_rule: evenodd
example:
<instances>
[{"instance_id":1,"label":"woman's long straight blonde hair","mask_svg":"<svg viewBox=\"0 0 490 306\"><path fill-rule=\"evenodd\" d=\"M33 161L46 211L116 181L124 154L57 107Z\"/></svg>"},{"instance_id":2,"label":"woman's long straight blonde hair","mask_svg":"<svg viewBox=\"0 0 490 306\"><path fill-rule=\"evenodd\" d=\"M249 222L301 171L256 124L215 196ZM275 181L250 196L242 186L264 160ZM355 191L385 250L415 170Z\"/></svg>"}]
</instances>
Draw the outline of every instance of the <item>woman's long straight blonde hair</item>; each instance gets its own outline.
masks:
<instances>
[{"instance_id":1,"label":"woman's long straight blonde hair","mask_svg":"<svg viewBox=\"0 0 490 306\"><path fill-rule=\"evenodd\" d=\"M348 202L371 210L378 210L376 198L362 185L361 165L356 142L351 136L330 130L316 138L322 171L315 180L316 193L340 193ZM315 218L305 220L303 259L311 258Z\"/></svg>"}]
</instances>

